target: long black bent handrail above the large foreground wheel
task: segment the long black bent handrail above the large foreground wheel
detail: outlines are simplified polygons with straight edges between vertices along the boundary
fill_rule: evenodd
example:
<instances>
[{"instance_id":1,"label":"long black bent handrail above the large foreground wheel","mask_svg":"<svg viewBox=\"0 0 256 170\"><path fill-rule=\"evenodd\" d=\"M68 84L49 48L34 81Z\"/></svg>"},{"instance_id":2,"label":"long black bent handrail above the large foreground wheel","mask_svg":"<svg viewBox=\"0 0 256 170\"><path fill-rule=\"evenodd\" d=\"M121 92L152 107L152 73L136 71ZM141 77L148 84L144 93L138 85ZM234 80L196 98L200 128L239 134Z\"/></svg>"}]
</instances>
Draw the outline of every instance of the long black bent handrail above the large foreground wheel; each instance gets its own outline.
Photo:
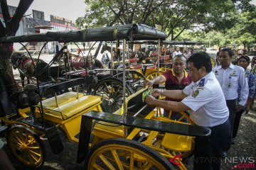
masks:
<instances>
[{"instance_id":1,"label":"long black bent handrail above the large foreground wheel","mask_svg":"<svg viewBox=\"0 0 256 170\"><path fill-rule=\"evenodd\" d=\"M178 135L188 135L195 137L208 137L210 128L198 125L186 125L181 123L168 123L160 120L150 120L132 116L116 115L113 113L90 111L82 115L79 144L78 163L82 162L89 151L90 135L92 130L92 120L100 120L107 123L124 125L132 128L154 130Z\"/></svg>"}]
</instances>

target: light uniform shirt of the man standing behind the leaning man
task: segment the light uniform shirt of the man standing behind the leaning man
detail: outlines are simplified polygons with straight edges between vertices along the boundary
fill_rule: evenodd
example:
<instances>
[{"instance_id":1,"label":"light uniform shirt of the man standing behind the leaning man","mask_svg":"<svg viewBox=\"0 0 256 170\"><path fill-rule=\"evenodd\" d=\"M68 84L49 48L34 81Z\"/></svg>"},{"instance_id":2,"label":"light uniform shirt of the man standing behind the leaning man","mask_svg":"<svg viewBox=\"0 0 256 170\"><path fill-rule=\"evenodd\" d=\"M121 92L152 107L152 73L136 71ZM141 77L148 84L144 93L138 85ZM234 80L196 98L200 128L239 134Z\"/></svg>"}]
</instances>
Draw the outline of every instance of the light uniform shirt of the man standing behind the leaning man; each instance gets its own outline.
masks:
<instances>
[{"instance_id":1,"label":"light uniform shirt of the man standing behind the leaning man","mask_svg":"<svg viewBox=\"0 0 256 170\"><path fill-rule=\"evenodd\" d=\"M241 97L239 104L245 106L249 94L248 83L245 79L245 69L230 64L227 69L223 69L221 66L214 67L213 73L220 83L226 100L238 98L238 84L240 84Z\"/></svg>"}]
</instances>

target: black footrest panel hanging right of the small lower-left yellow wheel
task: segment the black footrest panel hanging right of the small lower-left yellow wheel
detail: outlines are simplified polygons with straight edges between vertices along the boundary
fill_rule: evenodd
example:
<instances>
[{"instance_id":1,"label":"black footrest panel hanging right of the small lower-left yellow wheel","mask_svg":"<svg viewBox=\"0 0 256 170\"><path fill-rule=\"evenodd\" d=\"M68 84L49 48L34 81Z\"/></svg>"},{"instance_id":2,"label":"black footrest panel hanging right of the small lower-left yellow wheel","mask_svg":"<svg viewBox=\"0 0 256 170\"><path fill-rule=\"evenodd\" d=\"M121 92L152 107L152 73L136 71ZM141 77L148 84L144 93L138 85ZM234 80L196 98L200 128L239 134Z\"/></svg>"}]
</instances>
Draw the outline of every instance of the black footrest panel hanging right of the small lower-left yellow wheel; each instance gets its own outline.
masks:
<instances>
[{"instance_id":1,"label":"black footrest panel hanging right of the small lower-left yellow wheel","mask_svg":"<svg viewBox=\"0 0 256 170\"><path fill-rule=\"evenodd\" d=\"M46 136L53 154L59 154L63 151L63 142L61 142L58 129L55 126L46 129Z\"/></svg>"}]
</instances>

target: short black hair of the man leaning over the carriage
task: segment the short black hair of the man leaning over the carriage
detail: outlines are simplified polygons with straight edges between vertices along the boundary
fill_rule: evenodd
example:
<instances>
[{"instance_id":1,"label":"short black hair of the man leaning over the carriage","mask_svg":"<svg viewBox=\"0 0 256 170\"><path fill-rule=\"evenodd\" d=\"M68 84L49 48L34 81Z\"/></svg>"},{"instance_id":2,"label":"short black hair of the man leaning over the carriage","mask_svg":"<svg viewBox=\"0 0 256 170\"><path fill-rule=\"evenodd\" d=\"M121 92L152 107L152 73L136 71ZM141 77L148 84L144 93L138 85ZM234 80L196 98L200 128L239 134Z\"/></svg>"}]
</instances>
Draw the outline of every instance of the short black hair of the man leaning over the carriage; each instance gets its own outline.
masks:
<instances>
[{"instance_id":1,"label":"short black hair of the man leaning over the carriage","mask_svg":"<svg viewBox=\"0 0 256 170\"><path fill-rule=\"evenodd\" d=\"M193 62L193 67L201 69L206 68L206 72L212 71L212 64L210 62L210 56L206 52L196 52L188 58L188 62Z\"/></svg>"}]
</instances>

